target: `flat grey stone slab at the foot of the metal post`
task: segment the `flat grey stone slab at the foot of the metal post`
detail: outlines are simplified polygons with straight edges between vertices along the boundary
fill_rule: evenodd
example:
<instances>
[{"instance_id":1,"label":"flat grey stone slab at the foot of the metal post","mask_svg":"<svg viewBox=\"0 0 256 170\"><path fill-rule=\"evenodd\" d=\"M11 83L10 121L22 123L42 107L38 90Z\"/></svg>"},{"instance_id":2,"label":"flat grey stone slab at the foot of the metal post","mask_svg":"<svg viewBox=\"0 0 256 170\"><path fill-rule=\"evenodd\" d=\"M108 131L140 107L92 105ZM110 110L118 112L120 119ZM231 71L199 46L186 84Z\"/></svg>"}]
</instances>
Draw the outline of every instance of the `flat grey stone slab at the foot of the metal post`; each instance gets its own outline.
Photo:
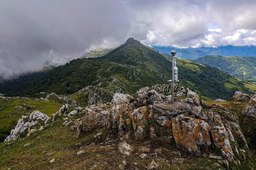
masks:
<instances>
[{"instance_id":1,"label":"flat grey stone slab at the foot of the metal post","mask_svg":"<svg viewBox=\"0 0 256 170\"><path fill-rule=\"evenodd\" d=\"M182 114L191 110L191 106L188 103L183 102L155 102L153 104L153 111L159 112L162 115L173 117L178 114Z\"/></svg>"}]
</instances>

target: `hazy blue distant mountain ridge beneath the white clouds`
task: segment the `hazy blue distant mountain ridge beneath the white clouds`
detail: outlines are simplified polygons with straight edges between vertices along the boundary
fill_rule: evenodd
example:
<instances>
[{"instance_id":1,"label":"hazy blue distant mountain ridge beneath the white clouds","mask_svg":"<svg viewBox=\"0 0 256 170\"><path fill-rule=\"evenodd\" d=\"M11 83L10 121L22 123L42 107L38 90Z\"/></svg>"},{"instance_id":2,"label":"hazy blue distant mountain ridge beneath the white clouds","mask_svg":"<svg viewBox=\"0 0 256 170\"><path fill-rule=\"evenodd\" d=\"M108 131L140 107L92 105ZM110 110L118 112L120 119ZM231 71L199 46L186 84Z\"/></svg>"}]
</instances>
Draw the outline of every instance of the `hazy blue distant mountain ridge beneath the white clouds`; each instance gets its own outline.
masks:
<instances>
[{"instance_id":1,"label":"hazy blue distant mountain ridge beneath the white clouds","mask_svg":"<svg viewBox=\"0 0 256 170\"><path fill-rule=\"evenodd\" d=\"M256 57L256 46L219 46L219 47L199 47L178 49L174 47L153 46L159 52L170 53L171 50L177 51L177 57L182 59L196 59L205 55L220 56L239 56L239 57Z\"/></svg>"}]
</instances>

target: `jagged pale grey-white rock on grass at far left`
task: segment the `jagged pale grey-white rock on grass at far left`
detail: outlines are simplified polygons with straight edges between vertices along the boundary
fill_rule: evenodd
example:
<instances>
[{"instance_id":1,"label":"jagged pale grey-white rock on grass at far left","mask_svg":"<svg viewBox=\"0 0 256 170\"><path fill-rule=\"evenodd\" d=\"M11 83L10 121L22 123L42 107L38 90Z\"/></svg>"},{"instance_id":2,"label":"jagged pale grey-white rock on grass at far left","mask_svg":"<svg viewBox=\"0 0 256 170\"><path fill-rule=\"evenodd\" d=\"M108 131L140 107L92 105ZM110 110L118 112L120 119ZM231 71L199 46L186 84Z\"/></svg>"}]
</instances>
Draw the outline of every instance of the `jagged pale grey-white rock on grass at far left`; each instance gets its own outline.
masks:
<instances>
[{"instance_id":1,"label":"jagged pale grey-white rock on grass at far left","mask_svg":"<svg viewBox=\"0 0 256 170\"><path fill-rule=\"evenodd\" d=\"M40 120L40 119L42 121L45 121L45 123L46 123L47 120L49 119L49 117L46 114L41 113L40 111L37 111L37 110L33 111L29 115L29 118L27 116L22 116L22 118L18 120L16 127L11 130L10 135L7 136L7 138L4 140L4 142L9 142L10 140L17 139L21 134L27 132L27 130L30 130L29 128L31 126L36 125L38 120ZM35 130L33 130L33 132L34 131ZM31 132L31 133L33 133L33 132Z\"/></svg>"}]
</instances>

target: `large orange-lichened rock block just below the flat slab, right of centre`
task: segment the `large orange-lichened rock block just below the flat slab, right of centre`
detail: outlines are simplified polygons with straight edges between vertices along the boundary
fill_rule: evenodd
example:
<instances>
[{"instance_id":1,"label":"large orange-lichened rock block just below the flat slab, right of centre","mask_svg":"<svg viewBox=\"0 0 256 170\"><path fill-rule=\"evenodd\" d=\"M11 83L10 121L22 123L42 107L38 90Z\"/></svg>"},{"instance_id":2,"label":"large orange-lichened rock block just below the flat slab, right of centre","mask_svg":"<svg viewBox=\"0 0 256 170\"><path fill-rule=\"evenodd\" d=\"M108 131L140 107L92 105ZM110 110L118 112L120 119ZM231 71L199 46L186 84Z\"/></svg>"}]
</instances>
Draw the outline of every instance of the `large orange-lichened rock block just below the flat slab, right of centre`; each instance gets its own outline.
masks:
<instances>
[{"instance_id":1,"label":"large orange-lichened rock block just below the flat slab, right of centre","mask_svg":"<svg viewBox=\"0 0 256 170\"><path fill-rule=\"evenodd\" d=\"M210 126L203 120L178 115L172 119L176 145L190 153L200 154L201 147L210 146Z\"/></svg>"}]
</instances>

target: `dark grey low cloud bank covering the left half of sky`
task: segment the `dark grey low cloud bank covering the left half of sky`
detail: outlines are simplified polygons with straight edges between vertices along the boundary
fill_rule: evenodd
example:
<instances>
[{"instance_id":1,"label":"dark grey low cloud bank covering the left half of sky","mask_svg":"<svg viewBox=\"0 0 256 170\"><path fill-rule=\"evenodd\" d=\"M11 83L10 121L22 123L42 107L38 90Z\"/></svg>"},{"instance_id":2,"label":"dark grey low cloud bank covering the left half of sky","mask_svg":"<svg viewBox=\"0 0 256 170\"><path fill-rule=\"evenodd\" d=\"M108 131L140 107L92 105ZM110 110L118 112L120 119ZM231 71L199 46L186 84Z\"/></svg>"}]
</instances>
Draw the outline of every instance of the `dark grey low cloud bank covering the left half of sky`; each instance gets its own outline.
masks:
<instances>
[{"instance_id":1,"label":"dark grey low cloud bank covering the left half of sky","mask_svg":"<svg viewBox=\"0 0 256 170\"><path fill-rule=\"evenodd\" d=\"M127 38L130 22L117 0L1 0L0 78L115 47Z\"/></svg>"}]
</instances>

